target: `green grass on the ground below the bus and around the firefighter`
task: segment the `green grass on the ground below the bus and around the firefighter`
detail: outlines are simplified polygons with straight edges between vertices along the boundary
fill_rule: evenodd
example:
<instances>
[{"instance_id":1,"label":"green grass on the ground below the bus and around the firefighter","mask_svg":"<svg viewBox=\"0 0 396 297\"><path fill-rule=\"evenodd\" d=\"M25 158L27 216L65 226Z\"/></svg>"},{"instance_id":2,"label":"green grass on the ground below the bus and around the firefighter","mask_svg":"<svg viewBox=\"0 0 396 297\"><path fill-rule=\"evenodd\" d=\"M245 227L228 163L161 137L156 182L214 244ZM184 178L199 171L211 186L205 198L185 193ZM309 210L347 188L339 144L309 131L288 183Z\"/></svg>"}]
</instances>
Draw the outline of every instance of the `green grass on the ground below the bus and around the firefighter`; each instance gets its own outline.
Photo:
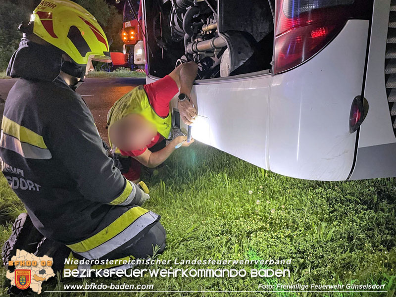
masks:
<instances>
[{"instance_id":1,"label":"green grass on the ground below the bus and around the firefighter","mask_svg":"<svg viewBox=\"0 0 396 297\"><path fill-rule=\"evenodd\" d=\"M395 179L314 182L267 172L217 149L180 148L153 178L144 176L151 199L145 208L161 214L167 248L160 259L292 259L290 278L101 278L52 279L63 284L153 284L159 291L255 291L258 284L385 284L387 293L167 293L167 296L395 296ZM251 192L249 192L251 191ZM0 179L0 240L22 204ZM173 268L207 268L183 266ZM274 268L276 266L270 266ZM144 267L147 268L147 267ZM158 266L158 268L169 268ZM210 268L263 268L212 266ZM2 292L8 283L1 272ZM61 295L63 294L63 295ZM43 294L45 295L45 293ZM109 293L67 293L108 296ZM114 294L112 294L114 295ZM164 296L118 293L117 296ZM66 296L52 293L49 296Z\"/></svg>"}]
</instances>

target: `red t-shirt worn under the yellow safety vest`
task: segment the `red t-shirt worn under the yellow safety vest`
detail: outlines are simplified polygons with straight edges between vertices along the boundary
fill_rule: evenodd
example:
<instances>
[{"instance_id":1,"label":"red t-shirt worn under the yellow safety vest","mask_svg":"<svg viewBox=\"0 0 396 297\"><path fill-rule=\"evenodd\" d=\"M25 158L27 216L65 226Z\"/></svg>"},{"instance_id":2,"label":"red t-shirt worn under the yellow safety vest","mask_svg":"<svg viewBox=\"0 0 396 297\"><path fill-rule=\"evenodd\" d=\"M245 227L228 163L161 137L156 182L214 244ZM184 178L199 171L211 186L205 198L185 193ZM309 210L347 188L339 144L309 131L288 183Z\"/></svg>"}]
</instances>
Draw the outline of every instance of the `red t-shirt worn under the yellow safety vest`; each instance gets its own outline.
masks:
<instances>
[{"instance_id":1,"label":"red t-shirt worn under the yellow safety vest","mask_svg":"<svg viewBox=\"0 0 396 297\"><path fill-rule=\"evenodd\" d=\"M160 117L167 117L169 114L169 102L179 92L176 82L169 76L165 76L156 82L144 85L148 101L150 105ZM163 136L159 133L154 137L151 143L142 149L124 151L120 149L121 154L135 157L141 155L147 148L153 147L155 144L163 140Z\"/></svg>"}]
</instances>

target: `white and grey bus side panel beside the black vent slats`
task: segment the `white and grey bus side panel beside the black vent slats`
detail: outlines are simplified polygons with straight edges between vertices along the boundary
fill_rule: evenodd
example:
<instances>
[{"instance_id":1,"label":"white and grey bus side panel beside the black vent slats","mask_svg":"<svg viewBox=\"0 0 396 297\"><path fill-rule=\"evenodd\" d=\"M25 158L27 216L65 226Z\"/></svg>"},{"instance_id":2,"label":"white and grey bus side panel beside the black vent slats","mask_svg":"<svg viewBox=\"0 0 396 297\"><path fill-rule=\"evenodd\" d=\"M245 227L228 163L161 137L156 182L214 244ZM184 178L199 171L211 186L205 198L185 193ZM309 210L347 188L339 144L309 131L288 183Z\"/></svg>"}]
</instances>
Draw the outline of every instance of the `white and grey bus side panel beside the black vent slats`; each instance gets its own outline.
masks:
<instances>
[{"instance_id":1,"label":"white and grey bus side panel beside the black vent slats","mask_svg":"<svg viewBox=\"0 0 396 297\"><path fill-rule=\"evenodd\" d=\"M375 0L364 98L368 113L359 131L356 163L349 179L396 176L396 137L385 82L390 0Z\"/></svg>"}]
</instances>

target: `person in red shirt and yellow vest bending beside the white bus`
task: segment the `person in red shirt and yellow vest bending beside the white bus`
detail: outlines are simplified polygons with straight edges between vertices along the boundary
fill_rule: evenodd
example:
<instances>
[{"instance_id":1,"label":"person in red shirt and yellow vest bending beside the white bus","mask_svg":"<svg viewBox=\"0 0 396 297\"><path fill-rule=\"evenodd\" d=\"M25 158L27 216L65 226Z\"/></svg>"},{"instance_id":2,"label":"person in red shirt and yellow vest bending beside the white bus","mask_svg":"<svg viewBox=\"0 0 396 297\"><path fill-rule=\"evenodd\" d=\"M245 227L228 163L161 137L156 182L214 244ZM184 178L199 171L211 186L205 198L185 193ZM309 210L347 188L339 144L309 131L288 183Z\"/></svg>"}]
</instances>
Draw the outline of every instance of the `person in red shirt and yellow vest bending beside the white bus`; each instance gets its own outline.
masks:
<instances>
[{"instance_id":1,"label":"person in red shirt and yellow vest bending beside the white bus","mask_svg":"<svg viewBox=\"0 0 396 297\"><path fill-rule=\"evenodd\" d=\"M178 109L187 125L192 125L197 110L190 102L190 93L197 76L198 65L188 62L179 65L169 75L138 86L118 99L107 115L107 127L112 151L132 157L124 176L135 183L140 180L141 164L154 168L164 162L175 147L190 146L186 136L176 137L165 146L171 128L169 103L179 92ZM124 171L125 172L125 171Z\"/></svg>"}]
</instances>

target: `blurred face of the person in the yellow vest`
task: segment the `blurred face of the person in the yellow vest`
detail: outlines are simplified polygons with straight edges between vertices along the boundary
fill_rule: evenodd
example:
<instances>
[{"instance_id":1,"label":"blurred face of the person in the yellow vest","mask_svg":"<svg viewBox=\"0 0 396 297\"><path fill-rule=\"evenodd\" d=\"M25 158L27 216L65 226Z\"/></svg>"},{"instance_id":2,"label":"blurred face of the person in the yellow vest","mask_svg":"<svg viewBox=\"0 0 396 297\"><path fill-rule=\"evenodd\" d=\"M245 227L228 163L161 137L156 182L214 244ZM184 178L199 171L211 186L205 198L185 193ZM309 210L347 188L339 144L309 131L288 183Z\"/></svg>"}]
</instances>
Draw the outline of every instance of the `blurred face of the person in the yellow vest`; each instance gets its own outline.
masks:
<instances>
[{"instance_id":1,"label":"blurred face of the person in the yellow vest","mask_svg":"<svg viewBox=\"0 0 396 297\"><path fill-rule=\"evenodd\" d=\"M129 114L109 127L111 143L124 151L147 147L156 134L155 125L140 114Z\"/></svg>"}]
</instances>

